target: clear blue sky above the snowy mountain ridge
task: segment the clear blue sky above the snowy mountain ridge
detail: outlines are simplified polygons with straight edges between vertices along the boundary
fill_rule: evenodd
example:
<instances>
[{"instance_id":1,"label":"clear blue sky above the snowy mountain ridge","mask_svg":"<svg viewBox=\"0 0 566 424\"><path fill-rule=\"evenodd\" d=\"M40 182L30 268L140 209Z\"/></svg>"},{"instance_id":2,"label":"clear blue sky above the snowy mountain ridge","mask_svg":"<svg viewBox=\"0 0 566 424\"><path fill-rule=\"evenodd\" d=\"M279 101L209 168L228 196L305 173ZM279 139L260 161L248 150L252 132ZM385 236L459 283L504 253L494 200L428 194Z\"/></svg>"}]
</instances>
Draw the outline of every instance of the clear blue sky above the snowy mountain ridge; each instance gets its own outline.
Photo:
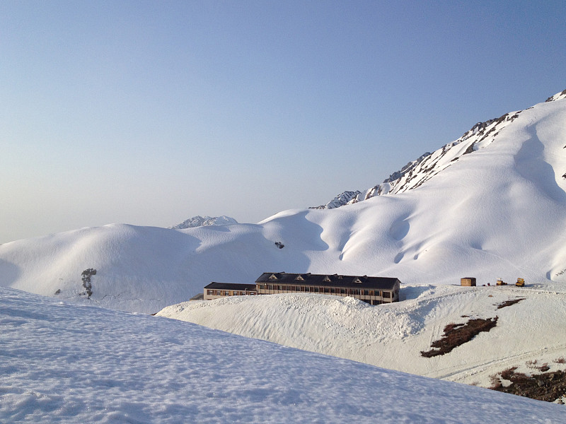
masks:
<instances>
[{"instance_id":1,"label":"clear blue sky above the snowy mountain ridge","mask_svg":"<svg viewBox=\"0 0 566 424\"><path fill-rule=\"evenodd\" d=\"M366 189L566 88L565 1L2 1L0 243Z\"/></svg>"}]
</instances>

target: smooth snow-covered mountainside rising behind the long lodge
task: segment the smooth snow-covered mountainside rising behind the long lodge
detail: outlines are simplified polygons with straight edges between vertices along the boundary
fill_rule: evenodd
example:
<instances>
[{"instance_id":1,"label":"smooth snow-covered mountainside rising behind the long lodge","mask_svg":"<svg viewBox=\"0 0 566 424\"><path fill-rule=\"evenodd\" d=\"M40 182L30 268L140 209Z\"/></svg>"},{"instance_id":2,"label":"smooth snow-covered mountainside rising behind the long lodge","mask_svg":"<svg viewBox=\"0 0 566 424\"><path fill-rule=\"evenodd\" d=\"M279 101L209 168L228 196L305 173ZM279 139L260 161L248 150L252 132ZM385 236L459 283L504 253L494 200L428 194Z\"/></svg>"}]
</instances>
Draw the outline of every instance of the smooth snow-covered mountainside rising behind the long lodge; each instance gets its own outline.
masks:
<instances>
[{"instance_id":1,"label":"smooth snow-covered mountainside rising behind the long lodge","mask_svg":"<svg viewBox=\"0 0 566 424\"><path fill-rule=\"evenodd\" d=\"M562 98L512 112L495 131L422 160L418 175L403 177L418 187L336 209L284 211L257 225L106 225L6 243L0 284L80 300L81 272L94 268L86 302L156 312L211 281L253 283L265 271L565 282L565 123Z\"/></svg>"}]
</instances>

